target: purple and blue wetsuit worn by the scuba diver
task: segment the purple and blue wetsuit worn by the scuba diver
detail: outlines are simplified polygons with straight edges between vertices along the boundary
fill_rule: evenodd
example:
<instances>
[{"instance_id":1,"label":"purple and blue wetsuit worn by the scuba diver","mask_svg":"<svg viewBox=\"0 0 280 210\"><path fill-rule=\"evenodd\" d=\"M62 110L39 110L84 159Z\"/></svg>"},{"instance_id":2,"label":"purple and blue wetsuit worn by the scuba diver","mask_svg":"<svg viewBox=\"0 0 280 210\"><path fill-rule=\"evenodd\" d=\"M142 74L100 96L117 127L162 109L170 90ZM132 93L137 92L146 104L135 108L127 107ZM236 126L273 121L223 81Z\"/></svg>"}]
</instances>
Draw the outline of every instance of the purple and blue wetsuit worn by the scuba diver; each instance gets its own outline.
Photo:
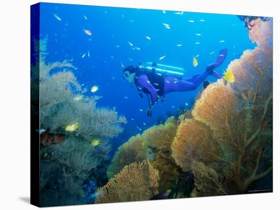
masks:
<instances>
[{"instance_id":1,"label":"purple and blue wetsuit worn by the scuba diver","mask_svg":"<svg viewBox=\"0 0 280 210\"><path fill-rule=\"evenodd\" d=\"M212 75L216 78L222 78L221 75L216 73L214 69L221 65L221 63L225 60L228 50L222 49L219 52L219 55L216 59L216 62L213 64L209 64L206 68L206 71L201 74L195 74L190 78L178 79L176 77L165 77L164 82L162 82L161 89L157 89L157 83L153 83L153 81L149 80L149 77L143 73L138 74L135 79L135 84L137 88L141 89L144 93L149 94L151 96L151 105L154 105L158 100L158 96L164 96L165 94L171 92L185 92L185 91L193 91L196 89L204 80Z\"/></svg>"}]
</instances>

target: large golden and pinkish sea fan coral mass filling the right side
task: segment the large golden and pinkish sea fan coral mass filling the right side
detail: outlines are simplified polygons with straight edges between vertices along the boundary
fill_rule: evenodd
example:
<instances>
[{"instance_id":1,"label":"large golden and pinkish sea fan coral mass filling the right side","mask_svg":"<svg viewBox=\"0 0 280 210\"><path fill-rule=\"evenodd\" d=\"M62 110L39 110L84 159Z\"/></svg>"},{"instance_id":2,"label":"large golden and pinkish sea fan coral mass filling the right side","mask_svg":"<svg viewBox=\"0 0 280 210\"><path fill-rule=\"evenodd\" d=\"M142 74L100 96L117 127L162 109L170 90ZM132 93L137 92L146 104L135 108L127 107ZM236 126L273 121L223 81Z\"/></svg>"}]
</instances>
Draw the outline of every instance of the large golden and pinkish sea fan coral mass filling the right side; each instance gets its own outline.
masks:
<instances>
[{"instance_id":1,"label":"large golden and pinkish sea fan coral mass filling the right side","mask_svg":"<svg viewBox=\"0 0 280 210\"><path fill-rule=\"evenodd\" d=\"M272 171L271 31L272 20L251 28L258 47L228 66L235 82L208 85L178 128L172 153L194 173L191 196L245 193Z\"/></svg>"}]
</instances>

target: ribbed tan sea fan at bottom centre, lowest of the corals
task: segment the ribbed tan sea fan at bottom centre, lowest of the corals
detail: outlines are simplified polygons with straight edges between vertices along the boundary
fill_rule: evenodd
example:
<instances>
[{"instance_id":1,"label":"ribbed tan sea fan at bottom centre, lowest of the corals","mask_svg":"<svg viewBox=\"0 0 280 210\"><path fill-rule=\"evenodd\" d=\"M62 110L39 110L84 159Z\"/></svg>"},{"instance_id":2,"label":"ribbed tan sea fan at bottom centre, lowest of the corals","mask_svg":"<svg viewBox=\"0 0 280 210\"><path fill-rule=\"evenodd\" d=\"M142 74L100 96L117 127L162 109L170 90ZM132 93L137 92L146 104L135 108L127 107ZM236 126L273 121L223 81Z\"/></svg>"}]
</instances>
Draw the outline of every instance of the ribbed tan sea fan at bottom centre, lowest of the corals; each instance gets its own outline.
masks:
<instances>
[{"instance_id":1,"label":"ribbed tan sea fan at bottom centre, lowest of the corals","mask_svg":"<svg viewBox=\"0 0 280 210\"><path fill-rule=\"evenodd\" d=\"M96 192L96 203L149 200L158 193L158 171L148 160L125 166Z\"/></svg>"}]
</instances>

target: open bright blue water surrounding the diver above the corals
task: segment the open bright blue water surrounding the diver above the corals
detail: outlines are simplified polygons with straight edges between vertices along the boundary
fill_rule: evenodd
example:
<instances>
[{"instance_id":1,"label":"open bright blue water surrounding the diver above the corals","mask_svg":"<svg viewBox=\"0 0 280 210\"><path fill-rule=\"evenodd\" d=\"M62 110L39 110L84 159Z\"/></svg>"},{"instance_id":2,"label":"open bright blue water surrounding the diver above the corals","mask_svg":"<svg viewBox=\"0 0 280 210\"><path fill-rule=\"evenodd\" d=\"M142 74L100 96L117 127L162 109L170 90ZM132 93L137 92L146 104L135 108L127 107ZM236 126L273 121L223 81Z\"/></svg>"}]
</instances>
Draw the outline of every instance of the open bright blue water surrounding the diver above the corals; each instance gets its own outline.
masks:
<instances>
[{"instance_id":1,"label":"open bright blue water surrounding the diver above the corals","mask_svg":"<svg viewBox=\"0 0 280 210\"><path fill-rule=\"evenodd\" d=\"M166 119L171 112L175 115L182 106L190 109L203 88L200 85L192 92L167 94L166 103L157 103L149 117L147 98L140 98L135 85L131 87L123 80L122 64L127 67L157 62L184 68L184 77L190 77L204 72L205 66L215 62L219 50L228 48L225 62L216 69L222 73L245 49L256 46L236 15L176 13L41 3L40 38L48 39L46 62L71 61L80 84L85 83L89 90L93 85L99 86L96 93L86 94L102 96L98 106L116 107L127 118L124 132L112 141L112 153L129 137L156 125L159 117ZM85 29L92 35L87 35ZM165 57L159 60L162 56ZM193 56L199 63L195 68ZM209 76L207 80L213 82L216 78Z\"/></svg>"}]
</instances>

